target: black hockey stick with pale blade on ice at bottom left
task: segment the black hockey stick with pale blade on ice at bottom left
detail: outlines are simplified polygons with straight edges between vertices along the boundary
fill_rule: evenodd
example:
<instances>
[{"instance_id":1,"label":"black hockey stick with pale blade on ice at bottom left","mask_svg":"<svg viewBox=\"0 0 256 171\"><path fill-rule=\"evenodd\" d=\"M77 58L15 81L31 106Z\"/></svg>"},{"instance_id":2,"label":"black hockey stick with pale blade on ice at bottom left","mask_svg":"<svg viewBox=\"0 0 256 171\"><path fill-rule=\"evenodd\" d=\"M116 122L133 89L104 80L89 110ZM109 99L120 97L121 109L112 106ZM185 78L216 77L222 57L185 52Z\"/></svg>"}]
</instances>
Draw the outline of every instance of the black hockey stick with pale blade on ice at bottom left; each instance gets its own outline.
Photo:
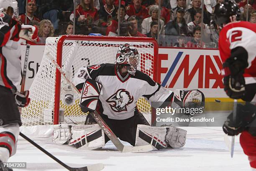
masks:
<instances>
[{"instance_id":1,"label":"black hockey stick with pale blade on ice at bottom left","mask_svg":"<svg viewBox=\"0 0 256 171\"><path fill-rule=\"evenodd\" d=\"M40 145L38 145L37 143L35 143L33 140L29 139L26 135L24 135L23 133L20 133L20 136L22 138L24 138L25 140L27 140L29 143L31 143L32 145L34 145L36 148L38 148L39 150L41 150L42 152L44 152L47 156L49 156L50 158L54 159L57 163L59 163L61 166L63 166L64 168L67 168L69 171L100 171L104 168L104 165L102 163L97 163L97 164L93 164L90 166L85 166L85 167L79 167L79 168L73 168L70 166L67 166L65 163L63 163L62 161L60 161L58 158L56 158L55 156L53 156L51 153L49 153L48 151L46 151L44 148L42 148Z\"/></svg>"}]
</instances>

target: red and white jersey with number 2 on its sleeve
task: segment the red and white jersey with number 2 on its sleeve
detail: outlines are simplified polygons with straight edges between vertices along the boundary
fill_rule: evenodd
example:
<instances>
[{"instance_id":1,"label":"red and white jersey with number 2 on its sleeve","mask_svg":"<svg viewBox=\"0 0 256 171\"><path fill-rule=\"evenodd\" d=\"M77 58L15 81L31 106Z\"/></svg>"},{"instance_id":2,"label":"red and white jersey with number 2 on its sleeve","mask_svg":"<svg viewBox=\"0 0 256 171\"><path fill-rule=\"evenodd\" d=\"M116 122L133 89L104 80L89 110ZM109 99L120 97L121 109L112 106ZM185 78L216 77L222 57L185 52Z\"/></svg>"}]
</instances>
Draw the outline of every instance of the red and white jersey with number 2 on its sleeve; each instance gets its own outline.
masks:
<instances>
[{"instance_id":1,"label":"red and white jersey with number 2 on its sleeve","mask_svg":"<svg viewBox=\"0 0 256 171\"><path fill-rule=\"evenodd\" d=\"M243 56L248 58L248 67L244 72L246 84L256 83L256 24L236 21L228 23L220 31L219 49L223 63L231 56L231 51L238 47L247 52Z\"/></svg>"}]
</instances>

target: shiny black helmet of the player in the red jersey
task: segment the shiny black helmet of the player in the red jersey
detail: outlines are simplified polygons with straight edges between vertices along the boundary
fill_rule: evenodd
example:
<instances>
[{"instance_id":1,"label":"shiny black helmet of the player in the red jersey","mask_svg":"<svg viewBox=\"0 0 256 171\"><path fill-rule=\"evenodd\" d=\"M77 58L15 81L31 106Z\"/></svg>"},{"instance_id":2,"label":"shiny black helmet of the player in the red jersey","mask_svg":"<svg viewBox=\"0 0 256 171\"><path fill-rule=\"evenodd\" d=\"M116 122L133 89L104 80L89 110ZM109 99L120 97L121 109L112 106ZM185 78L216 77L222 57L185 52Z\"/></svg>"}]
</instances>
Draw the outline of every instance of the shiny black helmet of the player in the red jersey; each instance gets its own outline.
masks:
<instances>
[{"instance_id":1,"label":"shiny black helmet of the player in the red jersey","mask_svg":"<svg viewBox=\"0 0 256 171\"><path fill-rule=\"evenodd\" d=\"M241 12L236 2L225 0L225 2L218 3L215 6L210 26L212 29L218 29L218 27L222 29L225 24L239 20L240 14Z\"/></svg>"}]
</instances>

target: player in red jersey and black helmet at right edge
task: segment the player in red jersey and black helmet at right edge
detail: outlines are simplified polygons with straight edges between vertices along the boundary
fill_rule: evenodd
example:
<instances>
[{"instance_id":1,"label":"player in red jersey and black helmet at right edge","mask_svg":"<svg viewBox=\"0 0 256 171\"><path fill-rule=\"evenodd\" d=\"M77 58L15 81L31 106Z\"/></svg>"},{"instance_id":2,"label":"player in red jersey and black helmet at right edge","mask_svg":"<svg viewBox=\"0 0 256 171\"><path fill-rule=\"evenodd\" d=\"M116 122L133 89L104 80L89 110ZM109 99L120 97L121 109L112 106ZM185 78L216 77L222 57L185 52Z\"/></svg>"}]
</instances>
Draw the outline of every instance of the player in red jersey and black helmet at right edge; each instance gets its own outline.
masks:
<instances>
[{"instance_id":1,"label":"player in red jersey and black helmet at right edge","mask_svg":"<svg viewBox=\"0 0 256 171\"><path fill-rule=\"evenodd\" d=\"M238 104L236 121L233 113L223 125L228 135L240 136L244 153L256 170L256 24L237 21L240 11L236 3L225 1L215 6L211 24L219 32L220 57L223 61L224 90Z\"/></svg>"}]
</instances>

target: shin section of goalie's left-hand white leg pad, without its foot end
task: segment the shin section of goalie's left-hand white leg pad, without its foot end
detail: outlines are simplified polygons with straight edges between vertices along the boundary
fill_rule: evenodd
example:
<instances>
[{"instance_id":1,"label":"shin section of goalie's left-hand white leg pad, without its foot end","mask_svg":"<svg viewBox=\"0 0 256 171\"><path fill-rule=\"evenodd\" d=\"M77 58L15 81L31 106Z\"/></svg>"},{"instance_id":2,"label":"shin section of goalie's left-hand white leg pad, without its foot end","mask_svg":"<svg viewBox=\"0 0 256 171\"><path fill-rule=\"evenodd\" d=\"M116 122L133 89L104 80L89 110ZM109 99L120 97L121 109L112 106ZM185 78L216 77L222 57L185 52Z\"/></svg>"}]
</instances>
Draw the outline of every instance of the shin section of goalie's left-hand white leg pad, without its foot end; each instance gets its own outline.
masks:
<instances>
[{"instance_id":1,"label":"shin section of goalie's left-hand white leg pad, without its foot end","mask_svg":"<svg viewBox=\"0 0 256 171\"><path fill-rule=\"evenodd\" d=\"M75 148L93 150L104 147L105 136L103 130L98 124L92 125L74 125L70 127L71 136L69 145Z\"/></svg>"}]
</instances>

